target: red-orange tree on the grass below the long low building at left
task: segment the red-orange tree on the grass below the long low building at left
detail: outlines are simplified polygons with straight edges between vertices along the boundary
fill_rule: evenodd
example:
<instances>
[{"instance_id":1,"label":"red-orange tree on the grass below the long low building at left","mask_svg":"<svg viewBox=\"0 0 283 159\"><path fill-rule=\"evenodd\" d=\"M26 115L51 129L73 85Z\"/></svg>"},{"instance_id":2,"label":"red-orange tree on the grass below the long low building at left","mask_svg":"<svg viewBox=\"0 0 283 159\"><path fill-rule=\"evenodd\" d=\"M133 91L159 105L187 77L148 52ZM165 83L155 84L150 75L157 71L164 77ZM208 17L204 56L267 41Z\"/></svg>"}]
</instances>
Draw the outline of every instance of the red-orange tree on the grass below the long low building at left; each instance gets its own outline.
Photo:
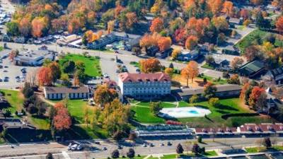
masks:
<instances>
[{"instance_id":1,"label":"red-orange tree on the grass below the long low building at left","mask_svg":"<svg viewBox=\"0 0 283 159\"><path fill-rule=\"evenodd\" d=\"M70 129L71 117L66 107L60 107L56 109L56 115L54 116L54 128L58 131Z\"/></svg>"}]
</instances>

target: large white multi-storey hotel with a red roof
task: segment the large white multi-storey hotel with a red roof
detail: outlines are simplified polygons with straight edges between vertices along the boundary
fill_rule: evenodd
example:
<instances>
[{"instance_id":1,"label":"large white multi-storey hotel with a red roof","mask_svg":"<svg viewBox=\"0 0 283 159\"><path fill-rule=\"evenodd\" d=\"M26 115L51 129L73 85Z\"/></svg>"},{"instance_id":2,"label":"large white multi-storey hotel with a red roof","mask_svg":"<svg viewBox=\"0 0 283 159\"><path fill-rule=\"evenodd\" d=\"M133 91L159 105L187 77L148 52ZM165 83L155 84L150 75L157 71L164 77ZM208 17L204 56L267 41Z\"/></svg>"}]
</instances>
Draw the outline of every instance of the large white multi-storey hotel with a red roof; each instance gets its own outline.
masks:
<instances>
[{"instance_id":1,"label":"large white multi-storey hotel with a red roof","mask_svg":"<svg viewBox=\"0 0 283 159\"><path fill-rule=\"evenodd\" d=\"M171 78L166 73L120 73L118 77L123 96L152 99L171 93Z\"/></svg>"}]
</instances>

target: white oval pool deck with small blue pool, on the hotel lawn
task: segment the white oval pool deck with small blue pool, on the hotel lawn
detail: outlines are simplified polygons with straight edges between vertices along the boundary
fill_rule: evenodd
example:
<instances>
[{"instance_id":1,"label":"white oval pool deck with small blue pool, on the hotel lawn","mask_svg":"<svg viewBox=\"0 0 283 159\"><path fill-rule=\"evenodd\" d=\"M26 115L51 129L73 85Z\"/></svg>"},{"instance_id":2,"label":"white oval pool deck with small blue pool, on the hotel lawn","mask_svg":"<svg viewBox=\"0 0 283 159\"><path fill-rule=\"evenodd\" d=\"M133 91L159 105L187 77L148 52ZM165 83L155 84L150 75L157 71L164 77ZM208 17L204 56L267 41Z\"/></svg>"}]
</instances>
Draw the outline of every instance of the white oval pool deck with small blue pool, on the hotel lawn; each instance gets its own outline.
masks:
<instances>
[{"instance_id":1,"label":"white oval pool deck with small blue pool, on the hotel lawn","mask_svg":"<svg viewBox=\"0 0 283 159\"><path fill-rule=\"evenodd\" d=\"M202 107L171 107L163 108L161 111L161 117L204 117L205 114L210 114L210 110Z\"/></svg>"}]
</instances>

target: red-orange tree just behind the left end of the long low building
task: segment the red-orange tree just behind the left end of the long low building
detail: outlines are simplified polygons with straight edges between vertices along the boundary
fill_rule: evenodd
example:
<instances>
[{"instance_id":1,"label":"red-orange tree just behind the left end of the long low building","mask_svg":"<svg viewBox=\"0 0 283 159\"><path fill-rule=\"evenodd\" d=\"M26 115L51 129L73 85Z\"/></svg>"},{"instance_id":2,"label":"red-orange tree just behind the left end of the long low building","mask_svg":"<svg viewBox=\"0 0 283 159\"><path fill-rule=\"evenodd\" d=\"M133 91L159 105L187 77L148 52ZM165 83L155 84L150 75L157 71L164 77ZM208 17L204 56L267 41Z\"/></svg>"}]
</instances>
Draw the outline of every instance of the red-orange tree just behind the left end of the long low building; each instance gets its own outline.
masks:
<instances>
[{"instance_id":1,"label":"red-orange tree just behind the left end of the long low building","mask_svg":"<svg viewBox=\"0 0 283 159\"><path fill-rule=\"evenodd\" d=\"M49 67L42 67L37 72L37 80L40 85L50 86L52 84L52 70Z\"/></svg>"}]
</instances>

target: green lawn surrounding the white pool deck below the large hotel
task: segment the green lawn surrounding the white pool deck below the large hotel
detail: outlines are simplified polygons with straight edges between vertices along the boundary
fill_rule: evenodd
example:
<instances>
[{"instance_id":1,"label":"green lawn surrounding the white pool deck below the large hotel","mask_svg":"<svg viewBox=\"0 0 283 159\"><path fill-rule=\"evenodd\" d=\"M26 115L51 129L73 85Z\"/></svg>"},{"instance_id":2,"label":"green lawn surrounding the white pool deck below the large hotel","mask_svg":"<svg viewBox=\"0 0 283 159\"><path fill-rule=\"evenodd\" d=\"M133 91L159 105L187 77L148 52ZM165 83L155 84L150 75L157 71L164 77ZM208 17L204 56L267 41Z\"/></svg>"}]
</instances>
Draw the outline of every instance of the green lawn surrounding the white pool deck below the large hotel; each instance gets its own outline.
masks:
<instances>
[{"instance_id":1,"label":"green lawn surrounding the white pool deck below the large hotel","mask_svg":"<svg viewBox=\"0 0 283 159\"><path fill-rule=\"evenodd\" d=\"M162 102L164 103L164 102ZM165 102L166 103L166 102ZM173 104L163 104L165 107L175 107ZM224 114L236 114L236 113L251 113L247 107L241 104L238 98L222 99L220 100L220 105L217 107L212 107L208 102L196 102L187 103L185 101L180 101L178 107L202 107L204 109L209 109L212 113L207 115L207 117L190 117L190 118L180 118L178 121L189 124L192 127L207 127L207 126L238 126L244 123L259 123L259 122L275 122L273 119L260 116L238 116L230 117L228 119L221 118ZM149 102L140 102L137 105L132 106L132 111L134 112L134 119L137 122L146 124L162 124L165 122L164 119L156 117L150 112Z\"/></svg>"}]
</instances>

